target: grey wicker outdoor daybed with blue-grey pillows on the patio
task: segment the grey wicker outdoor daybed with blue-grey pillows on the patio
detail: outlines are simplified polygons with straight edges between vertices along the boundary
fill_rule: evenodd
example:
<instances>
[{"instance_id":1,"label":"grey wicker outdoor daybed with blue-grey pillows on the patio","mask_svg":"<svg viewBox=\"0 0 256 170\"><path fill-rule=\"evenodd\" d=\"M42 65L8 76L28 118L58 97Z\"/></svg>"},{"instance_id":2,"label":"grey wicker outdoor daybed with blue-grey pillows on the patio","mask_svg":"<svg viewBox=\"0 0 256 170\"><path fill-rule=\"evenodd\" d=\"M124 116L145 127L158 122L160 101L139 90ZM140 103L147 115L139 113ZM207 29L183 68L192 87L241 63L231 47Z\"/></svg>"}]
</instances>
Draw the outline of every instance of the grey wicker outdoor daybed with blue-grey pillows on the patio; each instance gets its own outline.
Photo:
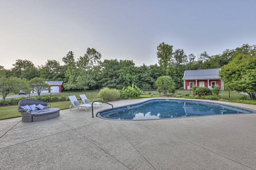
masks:
<instances>
[{"instance_id":1,"label":"grey wicker outdoor daybed with blue-grey pillows on the patio","mask_svg":"<svg viewBox=\"0 0 256 170\"><path fill-rule=\"evenodd\" d=\"M22 99L18 104L23 122L43 121L60 115L59 108L51 108L46 102L34 99Z\"/></svg>"}]
</instances>

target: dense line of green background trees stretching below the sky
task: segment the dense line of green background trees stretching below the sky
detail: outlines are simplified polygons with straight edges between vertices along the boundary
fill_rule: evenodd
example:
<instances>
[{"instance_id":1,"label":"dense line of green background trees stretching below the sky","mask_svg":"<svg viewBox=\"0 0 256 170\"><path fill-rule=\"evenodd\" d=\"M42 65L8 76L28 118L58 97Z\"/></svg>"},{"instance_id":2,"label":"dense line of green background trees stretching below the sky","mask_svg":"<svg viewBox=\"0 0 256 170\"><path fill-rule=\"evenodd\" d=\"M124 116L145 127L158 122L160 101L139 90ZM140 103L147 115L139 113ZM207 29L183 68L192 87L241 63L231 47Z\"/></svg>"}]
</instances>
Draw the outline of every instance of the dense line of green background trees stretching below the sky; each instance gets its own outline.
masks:
<instances>
[{"instance_id":1,"label":"dense line of green background trees stretching below the sky","mask_svg":"<svg viewBox=\"0 0 256 170\"><path fill-rule=\"evenodd\" d=\"M0 77L16 77L22 80L43 78L46 80L63 80L65 90L98 90L103 87L122 89L124 86L136 84L141 89L155 89L156 80L160 76L170 76L175 88L182 88L185 70L225 68L235 58L239 61L245 57L256 57L256 46L244 44L236 49L226 49L222 54L209 56L206 51L195 56L186 55L183 49L173 49L172 45L160 43L157 47L156 57L158 64L135 66L132 60L110 59L101 61L102 55L94 48L87 48L84 56L75 59L72 51L62 58L64 65L59 61L47 60L47 63L35 66L28 60L16 60L14 67L5 69L0 66ZM240 59L239 59L240 57ZM249 59L246 58L248 61ZM250 60L249 60L250 61ZM236 62L236 64L238 64ZM251 68L253 68L253 64ZM255 67L256 68L256 67ZM242 68L237 68L240 72ZM225 73L220 74L225 80ZM230 73L230 74L234 74ZM245 73L247 75L247 73ZM254 71L250 72L254 76ZM234 76L231 76L234 79ZM246 77L244 77L246 79ZM255 79L255 78L254 78ZM224 83L230 81L226 79ZM237 82L227 86L232 89ZM244 84L248 83L247 79ZM251 82L252 83L252 82ZM255 92L254 92L255 93Z\"/></svg>"}]
</instances>

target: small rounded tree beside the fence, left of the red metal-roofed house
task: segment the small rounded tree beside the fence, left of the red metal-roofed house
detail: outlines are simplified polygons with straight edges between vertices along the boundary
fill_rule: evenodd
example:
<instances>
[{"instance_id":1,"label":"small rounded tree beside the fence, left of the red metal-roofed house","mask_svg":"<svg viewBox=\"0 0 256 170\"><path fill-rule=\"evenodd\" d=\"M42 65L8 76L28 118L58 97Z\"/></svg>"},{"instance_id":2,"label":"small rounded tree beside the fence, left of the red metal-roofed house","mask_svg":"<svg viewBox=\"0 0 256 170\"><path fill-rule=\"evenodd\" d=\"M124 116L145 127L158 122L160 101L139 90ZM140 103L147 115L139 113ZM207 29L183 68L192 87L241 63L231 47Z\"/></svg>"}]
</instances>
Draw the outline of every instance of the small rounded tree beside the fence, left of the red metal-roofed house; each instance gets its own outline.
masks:
<instances>
[{"instance_id":1,"label":"small rounded tree beside the fence, left of the red metal-roofed house","mask_svg":"<svg viewBox=\"0 0 256 170\"><path fill-rule=\"evenodd\" d=\"M159 92L162 92L164 95L166 95L169 89L174 88L174 81L170 76L161 76L157 78L156 86L158 87Z\"/></svg>"}]
</instances>

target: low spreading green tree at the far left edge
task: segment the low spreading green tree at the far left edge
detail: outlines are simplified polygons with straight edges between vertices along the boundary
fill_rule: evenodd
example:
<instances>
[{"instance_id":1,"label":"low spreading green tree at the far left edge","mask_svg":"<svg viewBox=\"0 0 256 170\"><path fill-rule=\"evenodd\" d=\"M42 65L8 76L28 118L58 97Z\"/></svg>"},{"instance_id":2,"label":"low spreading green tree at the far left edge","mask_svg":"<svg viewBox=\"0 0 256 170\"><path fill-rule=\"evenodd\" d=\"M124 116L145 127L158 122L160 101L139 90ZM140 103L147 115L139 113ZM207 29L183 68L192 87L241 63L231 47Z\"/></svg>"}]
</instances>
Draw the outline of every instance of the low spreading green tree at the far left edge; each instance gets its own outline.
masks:
<instances>
[{"instance_id":1,"label":"low spreading green tree at the far left edge","mask_svg":"<svg viewBox=\"0 0 256 170\"><path fill-rule=\"evenodd\" d=\"M3 99L5 101L6 96L13 92L18 93L20 90L24 89L26 85L26 80L22 80L17 77L0 77L0 92L2 93Z\"/></svg>"}]
</instances>

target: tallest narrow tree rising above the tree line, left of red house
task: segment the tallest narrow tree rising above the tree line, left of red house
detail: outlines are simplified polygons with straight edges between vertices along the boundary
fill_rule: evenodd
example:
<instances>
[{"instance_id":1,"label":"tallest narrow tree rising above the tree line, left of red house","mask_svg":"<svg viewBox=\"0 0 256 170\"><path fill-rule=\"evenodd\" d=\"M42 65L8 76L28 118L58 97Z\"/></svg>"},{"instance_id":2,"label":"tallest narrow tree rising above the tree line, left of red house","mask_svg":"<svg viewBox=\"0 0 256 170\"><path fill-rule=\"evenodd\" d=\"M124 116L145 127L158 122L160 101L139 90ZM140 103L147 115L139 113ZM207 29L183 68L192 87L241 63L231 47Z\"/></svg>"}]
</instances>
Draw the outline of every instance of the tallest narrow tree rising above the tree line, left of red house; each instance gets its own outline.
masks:
<instances>
[{"instance_id":1,"label":"tallest narrow tree rising above the tree line, left of red house","mask_svg":"<svg viewBox=\"0 0 256 170\"><path fill-rule=\"evenodd\" d=\"M168 75L168 66L172 57L172 45L161 43L157 47L157 58L160 68L164 75Z\"/></svg>"}]
</instances>

